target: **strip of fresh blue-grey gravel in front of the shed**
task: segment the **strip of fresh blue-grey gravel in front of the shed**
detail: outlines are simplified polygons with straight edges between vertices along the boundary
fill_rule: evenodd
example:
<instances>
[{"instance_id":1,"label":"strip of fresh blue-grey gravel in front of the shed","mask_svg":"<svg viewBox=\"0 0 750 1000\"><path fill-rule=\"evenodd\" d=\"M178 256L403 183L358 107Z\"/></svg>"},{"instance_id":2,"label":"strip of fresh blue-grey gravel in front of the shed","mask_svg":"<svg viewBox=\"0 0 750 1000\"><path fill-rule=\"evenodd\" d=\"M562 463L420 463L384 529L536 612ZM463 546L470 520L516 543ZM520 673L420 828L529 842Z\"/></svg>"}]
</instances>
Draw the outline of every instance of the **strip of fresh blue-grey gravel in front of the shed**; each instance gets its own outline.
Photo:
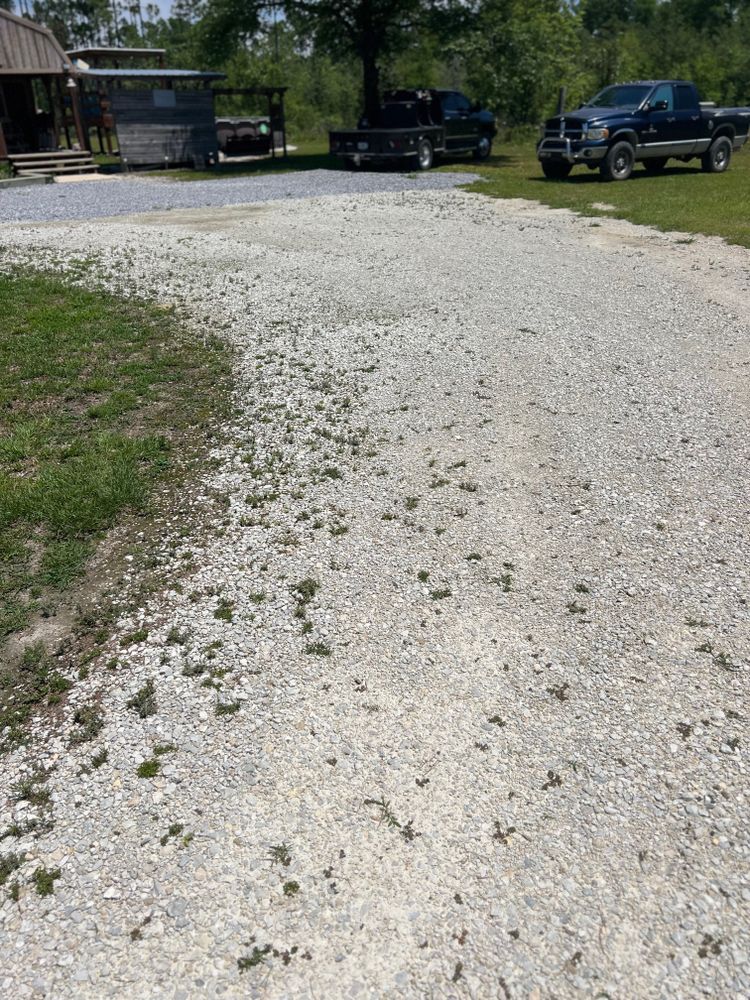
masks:
<instances>
[{"instance_id":1,"label":"strip of fresh blue-grey gravel in front of the shed","mask_svg":"<svg viewBox=\"0 0 750 1000\"><path fill-rule=\"evenodd\" d=\"M60 222L157 210L246 205L279 199L375 191L429 191L469 184L475 174L401 171L304 170L261 177L176 181L115 176L106 181L47 184L0 192L1 222Z\"/></svg>"}]
</instances>

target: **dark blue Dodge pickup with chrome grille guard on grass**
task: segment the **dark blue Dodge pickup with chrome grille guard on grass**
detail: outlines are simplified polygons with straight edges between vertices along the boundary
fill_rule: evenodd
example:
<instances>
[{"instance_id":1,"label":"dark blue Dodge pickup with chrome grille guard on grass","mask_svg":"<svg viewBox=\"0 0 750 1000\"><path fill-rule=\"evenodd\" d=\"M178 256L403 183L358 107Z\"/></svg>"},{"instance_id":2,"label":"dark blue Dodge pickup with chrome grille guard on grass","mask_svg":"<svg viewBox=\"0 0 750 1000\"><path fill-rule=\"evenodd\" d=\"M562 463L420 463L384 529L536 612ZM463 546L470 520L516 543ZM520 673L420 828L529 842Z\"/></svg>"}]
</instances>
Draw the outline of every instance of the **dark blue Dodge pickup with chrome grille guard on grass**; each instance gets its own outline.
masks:
<instances>
[{"instance_id":1,"label":"dark blue Dodge pickup with chrome grille guard on grass","mask_svg":"<svg viewBox=\"0 0 750 1000\"><path fill-rule=\"evenodd\" d=\"M701 103L686 80L641 80L605 87L576 111L542 126L537 157L545 177L562 179L577 164L624 181L636 162L649 173L670 157L700 157L703 170L721 173L747 141L750 108Z\"/></svg>"}]
</instances>

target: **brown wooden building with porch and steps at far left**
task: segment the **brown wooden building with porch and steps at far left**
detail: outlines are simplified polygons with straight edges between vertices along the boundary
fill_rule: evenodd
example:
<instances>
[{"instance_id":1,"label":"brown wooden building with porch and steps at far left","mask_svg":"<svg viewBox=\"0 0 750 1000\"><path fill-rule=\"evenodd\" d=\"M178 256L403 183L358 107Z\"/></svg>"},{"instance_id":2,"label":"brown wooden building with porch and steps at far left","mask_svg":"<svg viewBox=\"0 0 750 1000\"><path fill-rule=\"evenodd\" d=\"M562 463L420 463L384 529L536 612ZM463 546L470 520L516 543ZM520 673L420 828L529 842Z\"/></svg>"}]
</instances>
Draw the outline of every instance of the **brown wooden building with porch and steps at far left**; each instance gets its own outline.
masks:
<instances>
[{"instance_id":1,"label":"brown wooden building with porch and steps at far left","mask_svg":"<svg viewBox=\"0 0 750 1000\"><path fill-rule=\"evenodd\" d=\"M0 159L85 146L73 73L51 31L0 8Z\"/></svg>"}]
</instances>

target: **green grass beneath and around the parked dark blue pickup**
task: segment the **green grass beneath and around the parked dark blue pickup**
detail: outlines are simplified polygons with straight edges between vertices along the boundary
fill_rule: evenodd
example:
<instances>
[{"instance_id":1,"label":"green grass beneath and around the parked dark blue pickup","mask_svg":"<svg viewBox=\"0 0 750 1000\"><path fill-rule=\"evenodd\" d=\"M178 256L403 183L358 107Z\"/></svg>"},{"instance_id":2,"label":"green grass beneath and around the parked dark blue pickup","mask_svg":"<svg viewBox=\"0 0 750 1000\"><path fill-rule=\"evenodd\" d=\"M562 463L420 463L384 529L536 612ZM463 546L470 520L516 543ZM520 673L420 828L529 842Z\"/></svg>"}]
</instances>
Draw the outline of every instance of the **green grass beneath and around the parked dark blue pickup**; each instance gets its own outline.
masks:
<instances>
[{"instance_id":1,"label":"green grass beneath and around the parked dark blue pickup","mask_svg":"<svg viewBox=\"0 0 750 1000\"><path fill-rule=\"evenodd\" d=\"M732 157L725 174L704 174L700 161L670 160L661 175L650 176L637 165L627 181L606 183L598 171L575 167L565 181L548 181L536 159L535 139L511 143L495 140L496 155L478 165L444 160L442 170L473 171L482 180L470 191L494 198L528 198L552 208L569 208L582 215L627 219L638 225L686 233L722 236L729 243L750 247L750 148ZM602 202L614 211L592 207Z\"/></svg>"}]
</instances>

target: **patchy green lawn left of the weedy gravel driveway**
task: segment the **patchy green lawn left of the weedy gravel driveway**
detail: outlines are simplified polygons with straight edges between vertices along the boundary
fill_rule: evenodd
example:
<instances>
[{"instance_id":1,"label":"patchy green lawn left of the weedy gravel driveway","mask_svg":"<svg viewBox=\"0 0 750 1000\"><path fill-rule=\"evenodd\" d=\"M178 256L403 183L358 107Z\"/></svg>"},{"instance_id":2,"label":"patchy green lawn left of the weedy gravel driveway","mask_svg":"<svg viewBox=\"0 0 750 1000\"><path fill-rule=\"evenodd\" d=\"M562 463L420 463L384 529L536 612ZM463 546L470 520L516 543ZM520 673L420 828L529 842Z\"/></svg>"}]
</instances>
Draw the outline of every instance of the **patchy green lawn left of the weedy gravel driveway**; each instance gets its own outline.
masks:
<instances>
[{"instance_id":1,"label":"patchy green lawn left of the weedy gravel driveway","mask_svg":"<svg viewBox=\"0 0 750 1000\"><path fill-rule=\"evenodd\" d=\"M54 610L118 518L147 511L226 361L168 311L46 274L0 276L0 317L2 643Z\"/></svg>"}]
</instances>

